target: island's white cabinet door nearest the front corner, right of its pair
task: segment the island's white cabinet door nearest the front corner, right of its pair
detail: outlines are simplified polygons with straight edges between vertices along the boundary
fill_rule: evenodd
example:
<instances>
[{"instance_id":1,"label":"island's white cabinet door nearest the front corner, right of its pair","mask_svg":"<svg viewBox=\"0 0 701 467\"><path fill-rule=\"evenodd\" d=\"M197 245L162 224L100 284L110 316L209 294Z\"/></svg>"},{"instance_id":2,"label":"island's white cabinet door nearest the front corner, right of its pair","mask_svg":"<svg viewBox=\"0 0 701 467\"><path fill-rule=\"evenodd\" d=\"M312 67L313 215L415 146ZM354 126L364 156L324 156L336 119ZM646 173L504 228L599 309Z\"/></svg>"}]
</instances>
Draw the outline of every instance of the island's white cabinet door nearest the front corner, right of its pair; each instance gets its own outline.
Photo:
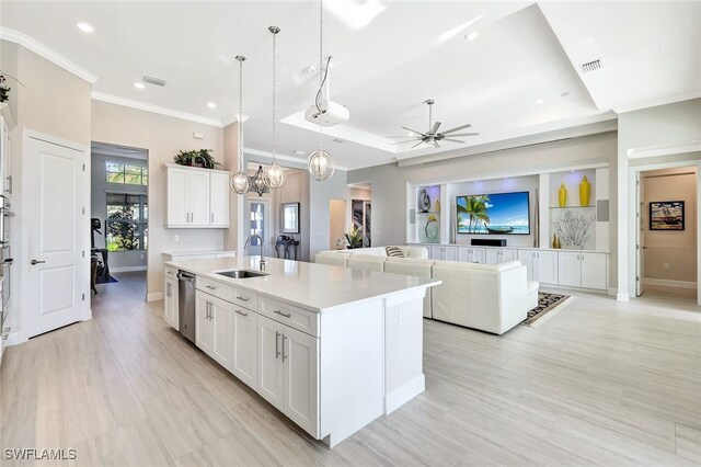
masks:
<instances>
[{"instance_id":1,"label":"island's white cabinet door nearest the front corner, right of its pair","mask_svg":"<svg viewBox=\"0 0 701 467\"><path fill-rule=\"evenodd\" d=\"M290 327L283 334L285 414L319 437L319 340Z\"/></svg>"}]
</instances>

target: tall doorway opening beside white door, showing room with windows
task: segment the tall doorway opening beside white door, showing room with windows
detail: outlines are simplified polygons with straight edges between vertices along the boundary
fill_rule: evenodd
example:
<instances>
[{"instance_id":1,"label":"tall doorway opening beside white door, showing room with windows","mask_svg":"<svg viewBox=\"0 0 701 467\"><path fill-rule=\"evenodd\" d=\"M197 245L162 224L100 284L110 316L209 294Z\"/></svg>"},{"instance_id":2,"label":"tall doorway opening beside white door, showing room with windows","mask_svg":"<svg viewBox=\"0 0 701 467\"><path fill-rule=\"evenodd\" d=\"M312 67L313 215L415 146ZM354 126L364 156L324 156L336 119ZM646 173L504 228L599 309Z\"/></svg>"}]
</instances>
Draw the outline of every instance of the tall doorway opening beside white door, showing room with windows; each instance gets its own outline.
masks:
<instances>
[{"instance_id":1,"label":"tall doorway opening beside white door, showing room with windows","mask_svg":"<svg viewBox=\"0 0 701 467\"><path fill-rule=\"evenodd\" d=\"M148 150L91 144L91 288L94 300L146 298Z\"/></svg>"}]
</instances>

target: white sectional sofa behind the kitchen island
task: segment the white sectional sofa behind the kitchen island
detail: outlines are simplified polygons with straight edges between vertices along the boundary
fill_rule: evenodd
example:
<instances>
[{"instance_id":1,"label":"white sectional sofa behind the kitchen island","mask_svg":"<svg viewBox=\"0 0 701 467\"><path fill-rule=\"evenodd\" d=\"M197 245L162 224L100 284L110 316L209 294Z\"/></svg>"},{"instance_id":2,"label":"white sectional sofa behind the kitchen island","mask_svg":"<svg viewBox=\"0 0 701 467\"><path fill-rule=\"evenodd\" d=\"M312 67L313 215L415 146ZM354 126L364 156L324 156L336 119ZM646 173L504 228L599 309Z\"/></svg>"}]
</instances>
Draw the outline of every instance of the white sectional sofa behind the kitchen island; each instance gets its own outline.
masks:
<instances>
[{"instance_id":1,"label":"white sectional sofa behind the kitchen island","mask_svg":"<svg viewBox=\"0 0 701 467\"><path fill-rule=\"evenodd\" d=\"M538 282L519 261L495 265L428 260L425 247L399 247L406 258L388 258L384 247L322 251L315 262L416 277L443 284L424 298L424 317L503 334L538 305Z\"/></svg>"}]
</instances>

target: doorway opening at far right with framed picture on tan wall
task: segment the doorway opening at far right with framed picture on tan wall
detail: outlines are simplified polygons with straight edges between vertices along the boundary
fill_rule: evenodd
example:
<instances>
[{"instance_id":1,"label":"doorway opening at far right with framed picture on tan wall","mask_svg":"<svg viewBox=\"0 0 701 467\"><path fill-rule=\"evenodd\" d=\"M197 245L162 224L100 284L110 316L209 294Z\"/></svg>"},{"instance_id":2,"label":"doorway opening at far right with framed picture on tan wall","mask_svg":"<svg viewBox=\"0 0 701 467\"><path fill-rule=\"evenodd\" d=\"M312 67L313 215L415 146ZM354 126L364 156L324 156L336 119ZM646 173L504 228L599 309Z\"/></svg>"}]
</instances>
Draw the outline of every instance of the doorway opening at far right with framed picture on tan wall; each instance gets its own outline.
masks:
<instances>
[{"instance_id":1,"label":"doorway opening at far right with framed picture on tan wall","mask_svg":"<svg viewBox=\"0 0 701 467\"><path fill-rule=\"evenodd\" d=\"M698 168L639 171L636 296L698 299Z\"/></svg>"}]
</instances>

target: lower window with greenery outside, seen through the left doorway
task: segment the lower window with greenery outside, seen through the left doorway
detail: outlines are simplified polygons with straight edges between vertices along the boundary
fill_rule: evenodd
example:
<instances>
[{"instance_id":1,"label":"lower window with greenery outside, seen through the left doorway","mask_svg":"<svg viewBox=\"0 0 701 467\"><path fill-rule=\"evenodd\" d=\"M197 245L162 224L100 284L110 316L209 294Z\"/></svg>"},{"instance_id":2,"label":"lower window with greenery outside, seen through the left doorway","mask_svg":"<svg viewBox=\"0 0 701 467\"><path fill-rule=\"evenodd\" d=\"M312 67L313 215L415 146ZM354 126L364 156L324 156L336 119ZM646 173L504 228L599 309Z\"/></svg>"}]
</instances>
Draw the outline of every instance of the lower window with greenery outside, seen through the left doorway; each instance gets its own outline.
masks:
<instances>
[{"instance_id":1,"label":"lower window with greenery outside, seen through the left doorway","mask_svg":"<svg viewBox=\"0 0 701 467\"><path fill-rule=\"evenodd\" d=\"M107 193L107 250L146 250L148 203L145 194Z\"/></svg>"}]
</instances>

